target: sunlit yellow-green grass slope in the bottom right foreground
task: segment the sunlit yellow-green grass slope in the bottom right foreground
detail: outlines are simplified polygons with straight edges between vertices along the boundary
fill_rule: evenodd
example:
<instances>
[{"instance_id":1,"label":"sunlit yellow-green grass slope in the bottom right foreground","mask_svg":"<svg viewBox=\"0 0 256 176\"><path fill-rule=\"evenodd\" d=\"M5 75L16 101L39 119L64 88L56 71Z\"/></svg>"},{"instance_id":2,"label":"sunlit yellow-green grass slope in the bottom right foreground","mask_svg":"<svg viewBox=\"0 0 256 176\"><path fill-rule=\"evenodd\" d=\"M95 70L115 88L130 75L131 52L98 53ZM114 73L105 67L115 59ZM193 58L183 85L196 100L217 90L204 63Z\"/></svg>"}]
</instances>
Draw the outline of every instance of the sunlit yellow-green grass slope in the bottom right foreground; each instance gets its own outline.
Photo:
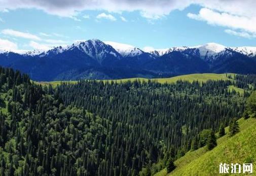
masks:
<instances>
[{"instance_id":1,"label":"sunlit yellow-green grass slope in the bottom right foreground","mask_svg":"<svg viewBox=\"0 0 256 176\"><path fill-rule=\"evenodd\" d=\"M174 163L177 166L171 173L167 174L166 169L155 174L155 176L210 176L210 175L247 175L240 174L220 174L220 163L253 163L256 164L256 119L240 119L240 132L229 138L228 135L217 140L217 147L207 151L205 147L193 152L186 153L185 156L177 159ZM228 128L226 128L228 132ZM256 169L253 173L256 175ZM230 170L231 171L231 170Z\"/></svg>"}]
</instances>

